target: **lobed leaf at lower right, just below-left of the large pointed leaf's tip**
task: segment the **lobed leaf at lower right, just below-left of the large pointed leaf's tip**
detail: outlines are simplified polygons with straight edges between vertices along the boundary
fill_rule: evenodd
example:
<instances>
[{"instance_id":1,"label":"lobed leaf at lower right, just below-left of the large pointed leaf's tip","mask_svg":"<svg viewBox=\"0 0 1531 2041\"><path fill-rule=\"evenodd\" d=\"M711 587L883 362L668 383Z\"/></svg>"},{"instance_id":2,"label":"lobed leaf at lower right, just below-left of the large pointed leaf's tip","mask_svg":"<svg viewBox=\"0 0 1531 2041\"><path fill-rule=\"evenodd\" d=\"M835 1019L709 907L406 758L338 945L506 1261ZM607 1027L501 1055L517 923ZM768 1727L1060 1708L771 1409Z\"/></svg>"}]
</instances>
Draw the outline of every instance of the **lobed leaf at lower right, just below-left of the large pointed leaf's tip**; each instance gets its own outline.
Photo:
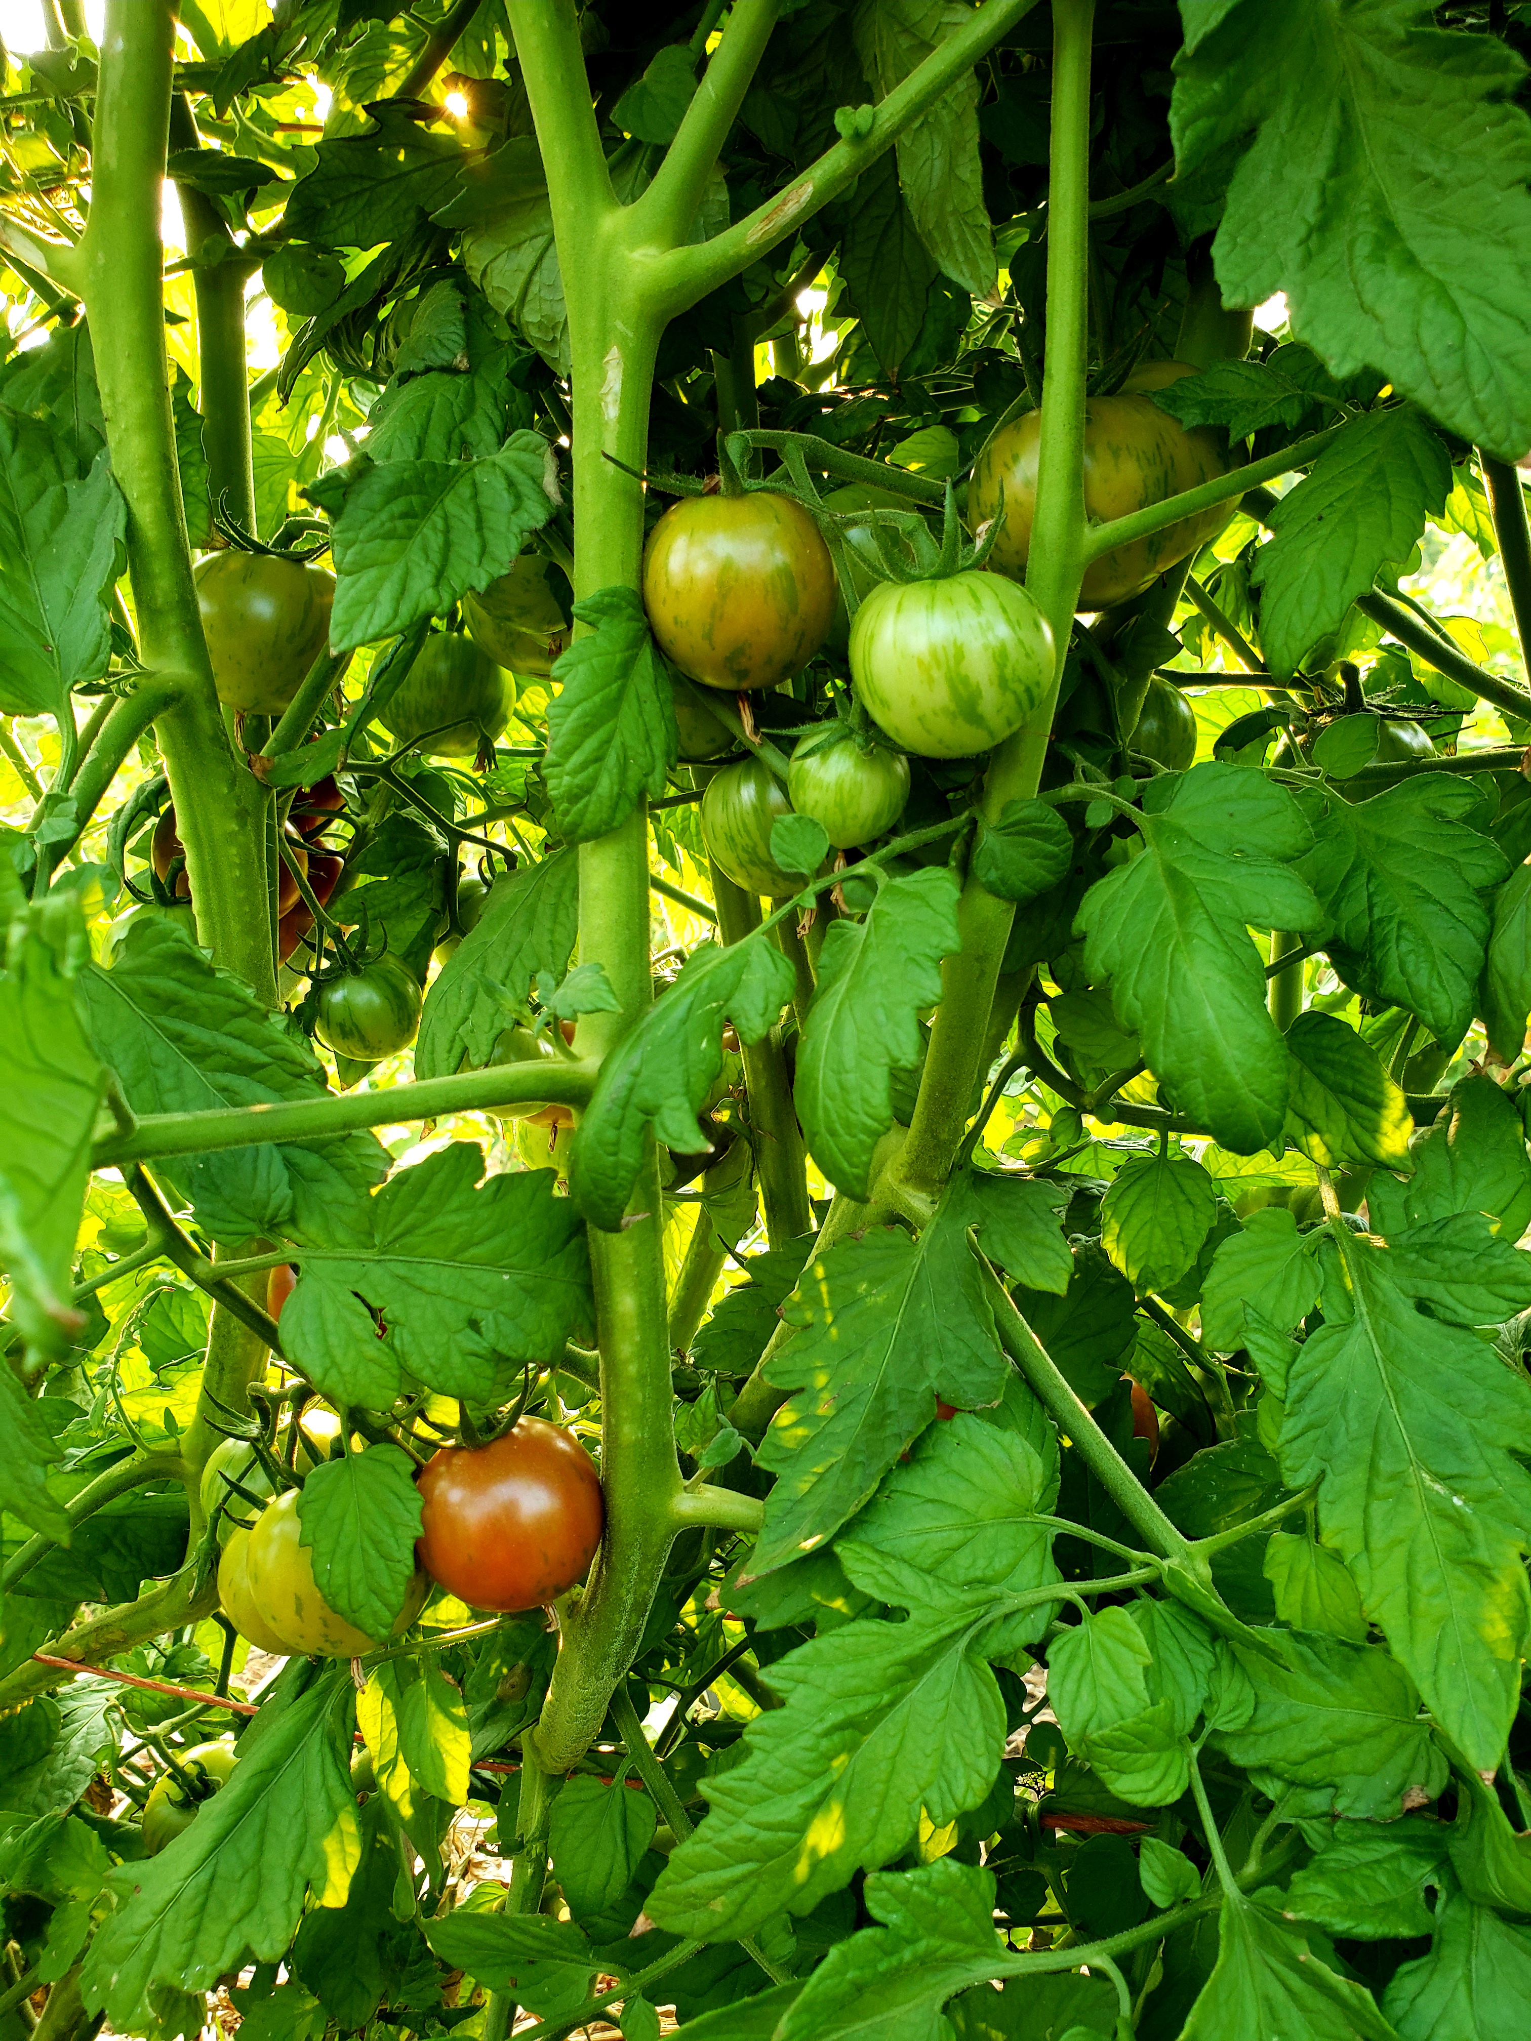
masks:
<instances>
[{"instance_id":1,"label":"lobed leaf at lower right, just below-left of the large pointed leaf's tip","mask_svg":"<svg viewBox=\"0 0 1531 2041\"><path fill-rule=\"evenodd\" d=\"M1213 1741L1235 1765L1323 1788L1329 1810L1351 1821L1392 1821L1441 1792L1445 1759L1396 1659L1313 1631L1270 1635L1280 1635L1280 1659L1233 1647L1255 1708Z\"/></svg>"}]
</instances>

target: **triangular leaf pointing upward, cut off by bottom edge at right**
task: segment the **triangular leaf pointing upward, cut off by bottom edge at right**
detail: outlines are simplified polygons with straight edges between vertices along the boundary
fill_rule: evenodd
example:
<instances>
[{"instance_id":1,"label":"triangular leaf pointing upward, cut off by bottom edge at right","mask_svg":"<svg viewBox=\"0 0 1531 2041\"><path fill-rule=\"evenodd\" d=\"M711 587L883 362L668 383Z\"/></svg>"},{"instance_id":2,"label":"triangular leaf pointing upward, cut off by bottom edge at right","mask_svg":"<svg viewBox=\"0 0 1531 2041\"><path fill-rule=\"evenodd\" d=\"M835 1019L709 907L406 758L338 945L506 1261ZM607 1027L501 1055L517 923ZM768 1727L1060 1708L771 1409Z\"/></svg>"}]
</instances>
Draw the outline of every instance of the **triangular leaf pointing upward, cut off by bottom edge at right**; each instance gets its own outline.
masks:
<instances>
[{"instance_id":1,"label":"triangular leaf pointing upward, cut off by bottom edge at right","mask_svg":"<svg viewBox=\"0 0 1531 2041\"><path fill-rule=\"evenodd\" d=\"M1235 1890L1223 1894L1217 1968L1180 2041L1225 2041L1245 2033L1398 2041L1366 1986L1331 1970L1298 1929Z\"/></svg>"}]
</instances>

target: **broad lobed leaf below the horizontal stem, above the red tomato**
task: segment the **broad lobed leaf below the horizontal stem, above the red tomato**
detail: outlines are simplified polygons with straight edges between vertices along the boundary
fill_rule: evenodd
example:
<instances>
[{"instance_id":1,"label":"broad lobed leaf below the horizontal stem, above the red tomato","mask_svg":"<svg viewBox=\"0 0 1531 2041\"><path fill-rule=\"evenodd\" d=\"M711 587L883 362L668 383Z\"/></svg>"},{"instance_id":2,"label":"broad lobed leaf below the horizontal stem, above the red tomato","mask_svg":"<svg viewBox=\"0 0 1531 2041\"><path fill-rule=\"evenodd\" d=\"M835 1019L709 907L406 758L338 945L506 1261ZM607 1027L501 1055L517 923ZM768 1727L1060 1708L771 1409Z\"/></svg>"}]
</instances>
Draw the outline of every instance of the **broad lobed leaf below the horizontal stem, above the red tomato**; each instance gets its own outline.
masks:
<instances>
[{"instance_id":1,"label":"broad lobed leaf below the horizontal stem, above the red tomato","mask_svg":"<svg viewBox=\"0 0 1531 2041\"><path fill-rule=\"evenodd\" d=\"M384 1184L367 1237L304 1249L282 1333L335 1402L386 1410L406 1376L488 1402L523 1363L551 1365L586 1333L590 1253L574 1204L545 1169L482 1178L478 1143L453 1141Z\"/></svg>"}]
</instances>

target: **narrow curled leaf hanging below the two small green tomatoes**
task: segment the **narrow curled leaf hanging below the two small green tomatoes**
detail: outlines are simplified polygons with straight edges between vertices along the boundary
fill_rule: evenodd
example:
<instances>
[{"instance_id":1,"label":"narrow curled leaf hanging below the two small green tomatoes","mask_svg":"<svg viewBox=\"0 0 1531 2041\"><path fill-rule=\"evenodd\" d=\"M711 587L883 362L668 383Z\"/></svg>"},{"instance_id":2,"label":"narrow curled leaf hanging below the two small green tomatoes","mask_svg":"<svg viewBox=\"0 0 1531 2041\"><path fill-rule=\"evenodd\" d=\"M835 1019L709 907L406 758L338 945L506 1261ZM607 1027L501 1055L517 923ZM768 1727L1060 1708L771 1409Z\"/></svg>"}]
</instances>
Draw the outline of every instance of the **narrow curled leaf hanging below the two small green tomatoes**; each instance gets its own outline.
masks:
<instances>
[{"instance_id":1,"label":"narrow curled leaf hanging below the two small green tomatoes","mask_svg":"<svg viewBox=\"0 0 1531 2041\"><path fill-rule=\"evenodd\" d=\"M957 878L945 865L890 880L863 923L831 925L798 1051L794 1096L808 1151L853 1198L894 1123L892 1074L921 1059L921 1008L941 998L941 959L961 947Z\"/></svg>"}]
</instances>

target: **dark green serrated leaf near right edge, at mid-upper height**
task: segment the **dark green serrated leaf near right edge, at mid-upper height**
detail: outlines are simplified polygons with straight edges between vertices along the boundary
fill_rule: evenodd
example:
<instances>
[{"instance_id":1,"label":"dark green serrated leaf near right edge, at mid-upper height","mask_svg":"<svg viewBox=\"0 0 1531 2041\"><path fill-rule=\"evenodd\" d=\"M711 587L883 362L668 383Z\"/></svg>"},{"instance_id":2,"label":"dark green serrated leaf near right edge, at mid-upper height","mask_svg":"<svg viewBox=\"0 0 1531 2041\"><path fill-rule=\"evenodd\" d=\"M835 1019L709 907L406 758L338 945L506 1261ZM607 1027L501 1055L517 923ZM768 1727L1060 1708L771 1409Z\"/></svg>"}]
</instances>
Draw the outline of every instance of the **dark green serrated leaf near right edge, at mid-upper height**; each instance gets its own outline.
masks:
<instances>
[{"instance_id":1,"label":"dark green serrated leaf near right edge, at mid-upper height","mask_svg":"<svg viewBox=\"0 0 1531 2041\"><path fill-rule=\"evenodd\" d=\"M1480 894L1504 878L1504 853L1464 816L1472 786L1421 774L1364 802L1331 796L1298 869L1333 935L1347 984L1419 1014L1437 1041L1472 1020L1488 941Z\"/></svg>"}]
</instances>

